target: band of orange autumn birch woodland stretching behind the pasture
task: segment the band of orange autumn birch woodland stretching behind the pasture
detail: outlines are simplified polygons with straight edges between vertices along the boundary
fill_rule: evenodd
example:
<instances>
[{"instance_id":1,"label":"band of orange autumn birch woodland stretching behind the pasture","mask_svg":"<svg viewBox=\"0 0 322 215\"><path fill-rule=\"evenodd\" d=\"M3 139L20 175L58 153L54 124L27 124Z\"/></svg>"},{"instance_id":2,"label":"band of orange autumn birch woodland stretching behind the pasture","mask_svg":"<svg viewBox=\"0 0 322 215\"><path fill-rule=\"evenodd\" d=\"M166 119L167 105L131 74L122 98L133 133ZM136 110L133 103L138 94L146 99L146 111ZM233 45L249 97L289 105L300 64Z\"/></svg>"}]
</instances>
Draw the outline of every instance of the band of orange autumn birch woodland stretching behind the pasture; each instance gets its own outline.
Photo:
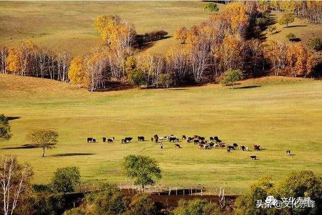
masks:
<instances>
[{"instance_id":1,"label":"band of orange autumn birch woodland stretching behind the pasture","mask_svg":"<svg viewBox=\"0 0 322 215\"><path fill-rule=\"evenodd\" d=\"M274 4L274 1L229 3L221 12L215 10L200 25L179 28L174 38L180 44L166 53L142 52L138 47L164 38L167 32L154 30L139 36L131 22L119 16L100 16L94 21L94 27L104 45L73 59L66 51L54 53L31 41L14 49L0 47L0 72L70 81L90 91L106 88L111 81L164 88L199 84L213 81L231 70L240 70L243 77L271 73L310 76L317 60L305 46L291 39L263 44L257 37L258 28L268 22L267 12L261 10L289 13L294 7L288 4L298 5L294 2ZM285 19L283 23L287 25L290 20L285 23Z\"/></svg>"}]
</instances>

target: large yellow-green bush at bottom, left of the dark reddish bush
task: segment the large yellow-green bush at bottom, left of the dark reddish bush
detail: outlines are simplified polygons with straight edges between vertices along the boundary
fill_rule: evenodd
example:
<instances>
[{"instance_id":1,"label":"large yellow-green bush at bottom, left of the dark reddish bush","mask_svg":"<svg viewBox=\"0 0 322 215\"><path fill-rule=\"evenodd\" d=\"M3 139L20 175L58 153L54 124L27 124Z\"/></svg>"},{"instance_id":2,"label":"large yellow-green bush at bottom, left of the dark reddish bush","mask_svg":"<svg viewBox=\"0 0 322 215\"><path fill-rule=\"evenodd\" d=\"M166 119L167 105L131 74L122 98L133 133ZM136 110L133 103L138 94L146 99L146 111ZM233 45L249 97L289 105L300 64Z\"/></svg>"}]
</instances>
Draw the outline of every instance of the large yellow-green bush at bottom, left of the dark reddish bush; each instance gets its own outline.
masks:
<instances>
[{"instance_id":1,"label":"large yellow-green bush at bottom, left of the dark reddish bush","mask_svg":"<svg viewBox=\"0 0 322 215\"><path fill-rule=\"evenodd\" d=\"M121 193L116 184L100 184L98 190L86 195L86 208L91 214L122 214L130 199Z\"/></svg>"}]
</instances>

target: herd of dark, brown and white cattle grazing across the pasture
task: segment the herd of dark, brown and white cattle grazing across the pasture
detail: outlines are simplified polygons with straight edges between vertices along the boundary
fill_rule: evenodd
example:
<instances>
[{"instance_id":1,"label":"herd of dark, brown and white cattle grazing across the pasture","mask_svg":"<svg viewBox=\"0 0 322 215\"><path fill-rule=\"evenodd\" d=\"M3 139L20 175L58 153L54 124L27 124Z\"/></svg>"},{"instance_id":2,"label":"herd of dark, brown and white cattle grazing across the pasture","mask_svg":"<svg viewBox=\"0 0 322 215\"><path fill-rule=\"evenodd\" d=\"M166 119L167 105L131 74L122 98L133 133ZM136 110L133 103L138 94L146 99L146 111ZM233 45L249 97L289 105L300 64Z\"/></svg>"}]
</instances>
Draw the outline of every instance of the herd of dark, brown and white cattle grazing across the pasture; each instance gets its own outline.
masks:
<instances>
[{"instance_id":1,"label":"herd of dark, brown and white cattle grazing across the pasture","mask_svg":"<svg viewBox=\"0 0 322 215\"><path fill-rule=\"evenodd\" d=\"M103 137L103 143L114 143L115 138L106 138ZM121 139L121 143L131 143L131 141L133 140L132 137L125 137L124 139ZM179 143L179 138L175 135L170 135L170 136L158 136L158 135L154 135L153 137L151 137L150 139L152 142L155 141L155 143L159 143L159 141L169 141L170 143L173 142L177 142L177 144L175 144L175 147L178 148L182 148L178 143ZM209 137L209 141L206 140L205 137L199 136L199 135L194 135L191 137L186 137L185 135L182 135L182 140L185 140L187 143L194 143L195 145L198 146L199 149L211 149L211 148L216 148L216 149L226 149L226 151L228 153L231 153L231 150L236 150L238 147L237 143L233 143L232 145L226 145L225 143L223 143L218 137ZM143 136L138 136L137 137L137 141L145 141L145 138ZM96 139L95 138L87 138L87 142L88 143L96 143ZM160 142L162 143L162 142ZM163 146L163 144L162 144ZM261 146L260 145L253 145L253 150L254 151L261 151ZM249 151L249 147L246 147L244 145L239 145L239 150L241 151ZM290 150L286 150L285 153L287 155L290 155L291 151ZM256 156L252 155L250 156L252 160L256 160Z\"/></svg>"}]
</instances>

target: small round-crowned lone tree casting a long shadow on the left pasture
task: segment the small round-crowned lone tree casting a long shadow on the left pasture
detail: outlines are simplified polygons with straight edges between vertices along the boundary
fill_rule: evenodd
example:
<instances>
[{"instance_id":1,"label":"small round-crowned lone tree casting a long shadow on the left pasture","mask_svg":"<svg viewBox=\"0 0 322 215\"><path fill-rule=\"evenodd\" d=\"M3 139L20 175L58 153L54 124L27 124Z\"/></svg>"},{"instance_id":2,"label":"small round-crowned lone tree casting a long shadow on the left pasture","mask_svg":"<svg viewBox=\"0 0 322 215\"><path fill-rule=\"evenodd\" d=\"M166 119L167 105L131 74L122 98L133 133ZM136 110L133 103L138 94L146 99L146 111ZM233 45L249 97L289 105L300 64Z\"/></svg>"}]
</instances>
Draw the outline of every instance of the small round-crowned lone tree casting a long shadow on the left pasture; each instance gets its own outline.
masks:
<instances>
[{"instance_id":1,"label":"small round-crowned lone tree casting a long shadow on the left pasture","mask_svg":"<svg viewBox=\"0 0 322 215\"><path fill-rule=\"evenodd\" d=\"M50 129L33 129L27 135L27 140L43 149L42 157L45 157L45 149L55 148L58 133Z\"/></svg>"}]
</instances>

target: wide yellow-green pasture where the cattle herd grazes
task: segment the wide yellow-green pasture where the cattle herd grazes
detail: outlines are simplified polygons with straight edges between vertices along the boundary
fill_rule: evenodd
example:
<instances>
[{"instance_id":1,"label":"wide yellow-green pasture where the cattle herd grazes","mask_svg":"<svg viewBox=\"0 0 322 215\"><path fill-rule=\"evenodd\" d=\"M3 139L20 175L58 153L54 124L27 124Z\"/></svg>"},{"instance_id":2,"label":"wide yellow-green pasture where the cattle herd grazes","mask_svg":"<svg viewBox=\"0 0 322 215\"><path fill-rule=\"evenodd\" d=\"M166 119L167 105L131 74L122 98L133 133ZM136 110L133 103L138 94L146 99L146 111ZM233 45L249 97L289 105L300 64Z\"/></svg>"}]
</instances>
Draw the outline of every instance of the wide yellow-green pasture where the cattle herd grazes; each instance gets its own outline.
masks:
<instances>
[{"instance_id":1,"label":"wide yellow-green pasture where the cattle herd grazes","mask_svg":"<svg viewBox=\"0 0 322 215\"><path fill-rule=\"evenodd\" d=\"M246 86L246 87L245 87ZM251 86L251 87L250 87ZM108 180L126 184L120 162L125 155L155 158L164 187L223 186L227 193L244 193L264 175L274 180L291 169L322 173L322 82L267 77L246 80L229 89L218 84L175 89L129 89L88 92L40 78L0 75L0 113L12 117L13 138L1 143L0 155L15 154L34 169L33 182L46 183L57 167L76 165L82 181ZM31 128L59 132L57 148L19 148ZM199 150L181 142L182 149L135 137L153 134L218 136L261 152ZM102 137L116 138L103 144ZM131 144L120 139L131 136ZM87 144L94 137L99 143ZM292 156L284 151L291 150ZM77 154L78 153L78 154ZM62 156L65 155L65 156ZM252 161L250 155L259 160Z\"/></svg>"}]
</instances>

